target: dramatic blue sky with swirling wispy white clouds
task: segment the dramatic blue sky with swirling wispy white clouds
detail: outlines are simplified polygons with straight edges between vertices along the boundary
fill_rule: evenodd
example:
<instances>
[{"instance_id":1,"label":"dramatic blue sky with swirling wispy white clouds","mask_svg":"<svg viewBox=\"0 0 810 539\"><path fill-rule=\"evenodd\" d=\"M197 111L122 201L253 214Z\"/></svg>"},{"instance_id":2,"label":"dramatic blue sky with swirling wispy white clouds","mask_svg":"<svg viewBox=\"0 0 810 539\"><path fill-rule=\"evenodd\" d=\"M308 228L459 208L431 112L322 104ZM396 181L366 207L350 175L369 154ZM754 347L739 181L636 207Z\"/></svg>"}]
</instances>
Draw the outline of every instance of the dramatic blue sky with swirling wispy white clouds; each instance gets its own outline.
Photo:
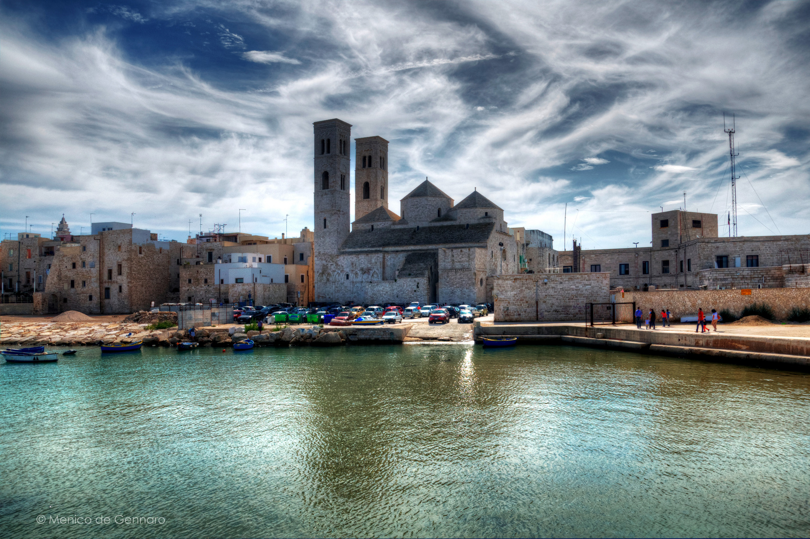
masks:
<instances>
[{"instance_id":1,"label":"dramatic blue sky with swirling wispy white clouds","mask_svg":"<svg viewBox=\"0 0 810 539\"><path fill-rule=\"evenodd\" d=\"M808 2L0 0L0 229L312 228L341 118L390 140L394 212L428 176L558 249L565 203L568 246L644 245L684 190L725 222L726 112L740 235L804 234L808 58Z\"/></svg>"}]
</instances>

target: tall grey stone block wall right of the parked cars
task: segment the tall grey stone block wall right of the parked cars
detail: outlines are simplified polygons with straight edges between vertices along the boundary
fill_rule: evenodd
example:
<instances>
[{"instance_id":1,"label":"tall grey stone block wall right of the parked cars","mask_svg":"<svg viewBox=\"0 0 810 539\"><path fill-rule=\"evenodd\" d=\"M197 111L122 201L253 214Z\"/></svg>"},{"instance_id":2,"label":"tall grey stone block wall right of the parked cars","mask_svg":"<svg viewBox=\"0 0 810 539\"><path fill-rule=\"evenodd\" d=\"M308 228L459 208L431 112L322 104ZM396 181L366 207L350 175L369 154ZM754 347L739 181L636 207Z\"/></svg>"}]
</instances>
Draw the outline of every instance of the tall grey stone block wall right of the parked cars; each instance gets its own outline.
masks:
<instances>
[{"instance_id":1,"label":"tall grey stone block wall right of the parked cars","mask_svg":"<svg viewBox=\"0 0 810 539\"><path fill-rule=\"evenodd\" d=\"M496 322L584 320L587 303L610 301L608 273L492 277Z\"/></svg>"}]
</instances>

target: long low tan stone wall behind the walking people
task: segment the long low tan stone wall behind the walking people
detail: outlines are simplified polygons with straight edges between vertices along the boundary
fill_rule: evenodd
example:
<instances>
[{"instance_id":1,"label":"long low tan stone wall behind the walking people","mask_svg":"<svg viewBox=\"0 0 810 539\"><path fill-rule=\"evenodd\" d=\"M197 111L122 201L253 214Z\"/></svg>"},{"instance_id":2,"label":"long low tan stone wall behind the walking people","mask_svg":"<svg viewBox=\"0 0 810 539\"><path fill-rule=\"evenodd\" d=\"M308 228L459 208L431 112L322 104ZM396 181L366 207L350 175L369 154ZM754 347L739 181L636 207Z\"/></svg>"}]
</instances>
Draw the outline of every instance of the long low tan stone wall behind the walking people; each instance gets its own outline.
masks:
<instances>
[{"instance_id":1,"label":"long low tan stone wall behind the walking people","mask_svg":"<svg viewBox=\"0 0 810 539\"><path fill-rule=\"evenodd\" d=\"M750 289L751 295L743 295L741 290L651 290L650 292L625 292L624 297L616 296L616 302L636 302L645 313L653 309L660 315L667 308L673 319L682 316L696 316L700 307L704 313L712 309L729 310L740 315L745 306L752 303L765 303L774 310L777 319L784 320L794 307L810 305L810 289ZM629 310L619 311L624 322L632 322Z\"/></svg>"}]
</instances>

